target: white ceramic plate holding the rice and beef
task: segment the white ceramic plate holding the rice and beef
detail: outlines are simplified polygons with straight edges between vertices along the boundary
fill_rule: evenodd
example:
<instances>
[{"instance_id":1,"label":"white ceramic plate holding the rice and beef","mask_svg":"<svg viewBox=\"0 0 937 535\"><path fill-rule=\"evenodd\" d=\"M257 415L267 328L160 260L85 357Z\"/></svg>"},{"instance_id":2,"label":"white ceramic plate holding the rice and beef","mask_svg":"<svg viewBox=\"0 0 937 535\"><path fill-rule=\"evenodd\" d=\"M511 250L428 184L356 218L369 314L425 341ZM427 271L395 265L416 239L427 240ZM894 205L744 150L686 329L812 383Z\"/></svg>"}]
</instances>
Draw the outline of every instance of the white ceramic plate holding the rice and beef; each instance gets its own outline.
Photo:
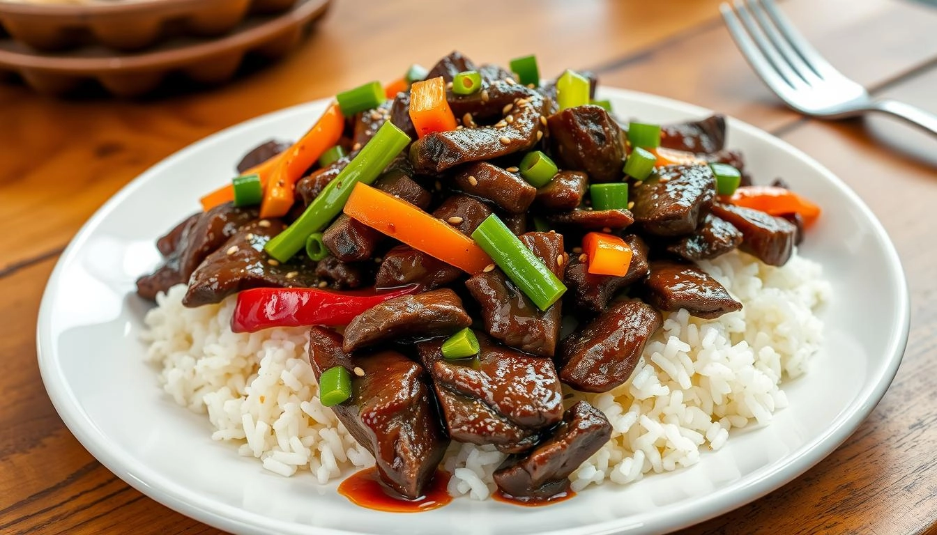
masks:
<instances>
[{"instance_id":1,"label":"white ceramic plate holding the rice and beef","mask_svg":"<svg viewBox=\"0 0 937 535\"><path fill-rule=\"evenodd\" d=\"M708 111L607 89L622 117L669 122ZM144 494L238 533L490 535L659 533L730 511L811 468L855 431L885 394L907 341L907 285L885 230L839 179L752 126L730 121L728 146L755 177L784 177L824 208L801 253L833 284L825 346L811 372L785 385L790 407L773 424L733 432L699 464L628 486L605 483L545 508L454 500L439 510L379 513L356 507L311 474L282 478L215 442L204 416L163 394L143 363L150 306L134 280L158 260L156 237L196 211L200 195L231 176L247 150L296 139L324 109L313 102L234 126L167 158L108 201L52 273L38 320L42 379L72 433Z\"/></svg>"}]
</instances>

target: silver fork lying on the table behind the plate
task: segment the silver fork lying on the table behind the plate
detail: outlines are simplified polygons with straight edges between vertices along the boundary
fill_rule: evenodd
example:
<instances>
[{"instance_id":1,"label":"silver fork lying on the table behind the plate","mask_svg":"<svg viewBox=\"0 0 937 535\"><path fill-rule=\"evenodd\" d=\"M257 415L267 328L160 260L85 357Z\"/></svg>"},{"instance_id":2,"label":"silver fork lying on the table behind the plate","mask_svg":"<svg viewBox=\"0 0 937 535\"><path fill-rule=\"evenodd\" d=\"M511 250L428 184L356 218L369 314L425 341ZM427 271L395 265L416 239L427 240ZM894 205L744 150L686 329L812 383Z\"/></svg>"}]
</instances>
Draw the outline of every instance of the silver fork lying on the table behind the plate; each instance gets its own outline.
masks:
<instances>
[{"instance_id":1,"label":"silver fork lying on the table behind the plate","mask_svg":"<svg viewBox=\"0 0 937 535\"><path fill-rule=\"evenodd\" d=\"M883 111L937 134L937 115L897 100L874 99L827 62L771 0L720 6L736 46L766 85L806 115L844 119Z\"/></svg>"}]
</instances>

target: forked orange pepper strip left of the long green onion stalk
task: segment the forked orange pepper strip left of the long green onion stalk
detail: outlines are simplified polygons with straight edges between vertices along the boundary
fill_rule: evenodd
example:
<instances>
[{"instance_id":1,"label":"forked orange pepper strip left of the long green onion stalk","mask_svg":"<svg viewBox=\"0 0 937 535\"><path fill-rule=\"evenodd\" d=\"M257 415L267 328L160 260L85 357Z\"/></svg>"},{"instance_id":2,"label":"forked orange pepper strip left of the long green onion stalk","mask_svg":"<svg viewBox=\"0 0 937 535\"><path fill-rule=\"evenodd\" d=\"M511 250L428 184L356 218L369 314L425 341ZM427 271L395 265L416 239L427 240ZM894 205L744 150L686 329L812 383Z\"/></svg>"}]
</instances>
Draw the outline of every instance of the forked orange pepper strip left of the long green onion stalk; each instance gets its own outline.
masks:
<instances>
[{"instance_id":1,"label":"forked orange pepper strip left of the long green onion stalk","mask_svg":"<svg viewBox=\"0 0 937 535\"><path fill-rule=\"evenodd\" d=\"M263 186L260 217L280 217L290 211L295 200L296 182L322 153L338 142L344 129L345 118L338 104L333 102L299 141L282 153L244 172L260 175L260 184ZM233 200L233 186L227 184L202 197L201 207L207 211Z\"/></svg>"}]
</instances>

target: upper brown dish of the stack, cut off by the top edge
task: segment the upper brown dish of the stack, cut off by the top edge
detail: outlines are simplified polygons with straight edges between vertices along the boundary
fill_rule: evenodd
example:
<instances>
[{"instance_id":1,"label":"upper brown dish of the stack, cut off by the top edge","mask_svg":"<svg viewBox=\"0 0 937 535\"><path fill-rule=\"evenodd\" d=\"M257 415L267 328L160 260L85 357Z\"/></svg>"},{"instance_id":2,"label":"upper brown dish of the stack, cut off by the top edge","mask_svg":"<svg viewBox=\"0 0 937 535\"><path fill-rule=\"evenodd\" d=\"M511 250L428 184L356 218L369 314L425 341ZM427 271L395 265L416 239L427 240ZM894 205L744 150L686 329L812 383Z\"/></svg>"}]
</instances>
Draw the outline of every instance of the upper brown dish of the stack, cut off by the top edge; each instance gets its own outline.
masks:
<instances>
[{"instance_id":1,"label":"upper brown dish of the stack, cut off by the top edge","mask_svg":"<svg viewBox=\"0 0 937 535\"><path fill-rule=\"evenodd\" d=\"M0 26L37 50L87 44L140 50L173 35L220 36L248 14L282 12L296 0L83 0L30 3L0 0ZM0 32L2 33L2 32Z\"/></svg>"}]
</instances>

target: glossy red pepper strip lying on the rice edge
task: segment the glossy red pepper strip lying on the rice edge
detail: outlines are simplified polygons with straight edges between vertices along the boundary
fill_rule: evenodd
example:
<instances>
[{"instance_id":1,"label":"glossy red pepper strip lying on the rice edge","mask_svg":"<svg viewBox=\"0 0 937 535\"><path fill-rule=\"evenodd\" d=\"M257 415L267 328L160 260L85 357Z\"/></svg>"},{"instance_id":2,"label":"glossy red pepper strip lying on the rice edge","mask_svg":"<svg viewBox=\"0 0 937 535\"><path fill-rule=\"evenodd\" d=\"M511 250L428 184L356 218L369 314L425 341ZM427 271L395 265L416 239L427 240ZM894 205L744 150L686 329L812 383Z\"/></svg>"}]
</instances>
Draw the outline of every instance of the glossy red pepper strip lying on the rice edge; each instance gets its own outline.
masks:
<instances>
[{"instance_id":1,"label":"glossy red pepper strip lying on the rice edge","mask_svg":"<svg viewBox=\"0 0 937 535\"><path fill-rule=\"evenodd\" d=\"M255 333L271 327L347 325L365 310L419 286L391 291L330 291L318 288L254 288L237 295L231 331Z\"/></svg>"}]
</instances>

